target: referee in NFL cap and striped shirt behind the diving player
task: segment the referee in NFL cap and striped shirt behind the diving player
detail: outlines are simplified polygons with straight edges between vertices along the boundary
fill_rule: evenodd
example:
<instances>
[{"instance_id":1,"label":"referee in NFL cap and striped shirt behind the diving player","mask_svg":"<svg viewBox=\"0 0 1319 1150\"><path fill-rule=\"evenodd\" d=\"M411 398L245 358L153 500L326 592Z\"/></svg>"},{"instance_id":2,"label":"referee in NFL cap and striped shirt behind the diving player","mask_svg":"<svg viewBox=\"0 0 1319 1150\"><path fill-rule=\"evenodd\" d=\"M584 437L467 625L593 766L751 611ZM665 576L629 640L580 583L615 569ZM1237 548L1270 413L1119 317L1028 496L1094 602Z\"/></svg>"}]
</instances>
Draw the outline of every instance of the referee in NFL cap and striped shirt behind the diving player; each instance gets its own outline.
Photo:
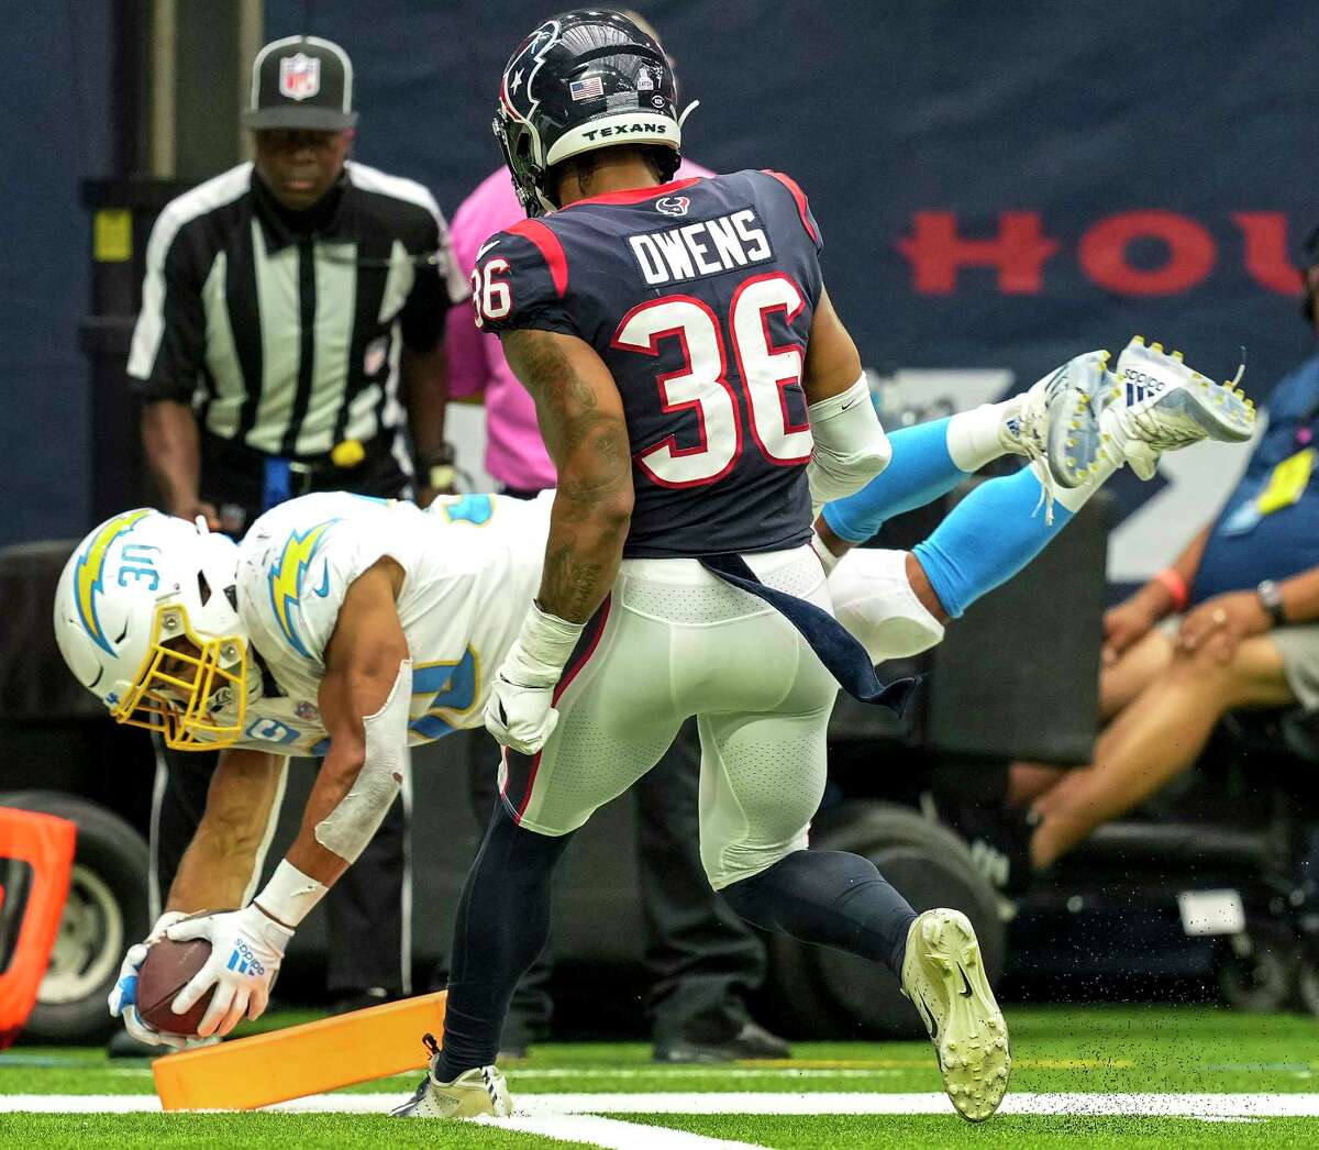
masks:
<instances>
[{"instance_id":1,"label":"referee in NFL cap and striped shirt behind the diving player","mask_svg":"<svg viewBox=\"0 0 1319 1150\"><path fill-rule=\"evenodd\" d=\"M425 505L451 483L441 335L464 284L430 193L347 158L356 120L342 47L268 44L244 113L256 162L173 200L152 231L128 375L170 514L237 538L307 492ZM157 748L157 899L215 760ZM410 992L409 795L326 899L344 1006Z\"/></svg>"}]
</instances>

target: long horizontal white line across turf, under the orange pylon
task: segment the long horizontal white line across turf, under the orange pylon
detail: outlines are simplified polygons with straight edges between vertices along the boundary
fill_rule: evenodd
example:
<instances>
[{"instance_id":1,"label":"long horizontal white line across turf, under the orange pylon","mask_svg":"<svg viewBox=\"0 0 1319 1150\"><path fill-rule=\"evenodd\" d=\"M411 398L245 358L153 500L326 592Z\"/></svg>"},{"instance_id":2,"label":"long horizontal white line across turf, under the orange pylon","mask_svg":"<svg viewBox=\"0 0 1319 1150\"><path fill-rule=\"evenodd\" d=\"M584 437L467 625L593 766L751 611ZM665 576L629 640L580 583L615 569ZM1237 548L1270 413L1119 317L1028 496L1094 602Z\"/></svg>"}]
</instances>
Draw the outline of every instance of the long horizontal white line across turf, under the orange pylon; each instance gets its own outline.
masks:
<instances>
[{"instance_id":1,"label":"long horizontal white line across turf, under the orange pylon","mask_svg":"<svg viewBox=\"0 0 1319 1150\"><path fill-rule=\"evenodd\" d=\"M380 1114L394 1093L313 1095L272 1110ZM566 1114L951 1114L942 1093L645 1093L520 1095L518 1117ZM154 1095L0 1095L0 1113L158 1113ZM1009 1093L1005 1114L1086 1114L1170 1118L1319 1118L1319 1095ZM634 1145L634 1143L633 1143ZM732 1143L725 1143L732 1145Z\"/></svg>"}]
</instances>

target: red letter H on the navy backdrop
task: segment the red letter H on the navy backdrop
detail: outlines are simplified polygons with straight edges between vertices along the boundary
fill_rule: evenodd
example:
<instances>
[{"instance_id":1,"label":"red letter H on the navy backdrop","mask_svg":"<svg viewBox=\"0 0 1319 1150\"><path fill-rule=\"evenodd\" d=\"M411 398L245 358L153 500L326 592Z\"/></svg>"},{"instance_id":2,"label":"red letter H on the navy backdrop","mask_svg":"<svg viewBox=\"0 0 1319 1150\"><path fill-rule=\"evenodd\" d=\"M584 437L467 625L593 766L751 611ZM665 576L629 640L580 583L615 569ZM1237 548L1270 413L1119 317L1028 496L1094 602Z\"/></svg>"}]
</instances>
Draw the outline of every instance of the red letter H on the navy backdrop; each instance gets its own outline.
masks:
<instances>
[{"instance_id":1,"label":"red letter H on the navy backdrop","mask_svg":"<svg viewBox=\"0 0 1319 1150\"><path fill-rule=\"evenodd\" d=\"M918 211L911 236L900 239L897 247L911 265L915 290L923 295L951 295L960 268L997 268L998 290L1005 295L1035 295L1045 261L1058 251L1034 211L1002 212L998 235L988 240L959 236L958 218L951 211Z\"/></svg>"}]
</instances>

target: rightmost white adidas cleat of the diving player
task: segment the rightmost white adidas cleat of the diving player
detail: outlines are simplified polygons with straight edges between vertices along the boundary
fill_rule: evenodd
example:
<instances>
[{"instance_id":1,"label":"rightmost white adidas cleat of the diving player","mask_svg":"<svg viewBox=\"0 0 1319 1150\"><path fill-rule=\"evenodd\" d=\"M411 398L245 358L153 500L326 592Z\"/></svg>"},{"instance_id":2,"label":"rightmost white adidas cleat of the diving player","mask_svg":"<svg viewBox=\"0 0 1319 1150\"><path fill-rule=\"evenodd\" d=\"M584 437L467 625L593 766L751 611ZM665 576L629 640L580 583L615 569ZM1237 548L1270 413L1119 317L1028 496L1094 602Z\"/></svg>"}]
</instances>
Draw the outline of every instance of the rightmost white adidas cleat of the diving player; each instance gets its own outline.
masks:
<instances>
[{"instance_id":1,"label":"rightmost white adidas cleat of the diving player","mask_svg":"<svg viewBox=\"0 0 1319 1150\"><path fill-rule=\"evenodd\" d=\"M1254 404L1236 388L1216 384L1136 336L1117 359L1117 380L1097 397L1105 454L1125 459L1141 479L1153 479L1159 455L1202 439L1244 443L1254 431Z\"/></svg>"}]
</instances>

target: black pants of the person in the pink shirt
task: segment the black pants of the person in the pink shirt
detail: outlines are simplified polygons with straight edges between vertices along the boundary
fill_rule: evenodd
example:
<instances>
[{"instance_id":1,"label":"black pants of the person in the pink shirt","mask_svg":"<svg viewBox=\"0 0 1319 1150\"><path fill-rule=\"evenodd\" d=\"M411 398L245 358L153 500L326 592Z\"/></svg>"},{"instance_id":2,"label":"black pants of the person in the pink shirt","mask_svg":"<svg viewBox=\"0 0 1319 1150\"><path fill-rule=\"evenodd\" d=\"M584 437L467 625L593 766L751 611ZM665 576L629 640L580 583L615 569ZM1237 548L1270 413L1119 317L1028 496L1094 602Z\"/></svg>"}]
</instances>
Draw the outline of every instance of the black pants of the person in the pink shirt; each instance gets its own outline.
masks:
<instances>
[{"instance_id":1,"label":"black pants of the person in the pink shirt","mask_svg":"<svg viewBox=\"0 0 1319 1150\"><path fill-rule=\"evenodd\" d=\"M499 758L485 739L471 740L471 748L472 810L484 830L499 801ZM700 865L700 742L694 719L683 724L673 746L632 793L652 975L652 1037L656 1044L679 1038L725 1042L749 1017L745 996L765 979L765 950L711 889ZM549 1030L551 948L553 942L513 993L504 1046L534 1042Z\"/></svg>"}]
</instances>

